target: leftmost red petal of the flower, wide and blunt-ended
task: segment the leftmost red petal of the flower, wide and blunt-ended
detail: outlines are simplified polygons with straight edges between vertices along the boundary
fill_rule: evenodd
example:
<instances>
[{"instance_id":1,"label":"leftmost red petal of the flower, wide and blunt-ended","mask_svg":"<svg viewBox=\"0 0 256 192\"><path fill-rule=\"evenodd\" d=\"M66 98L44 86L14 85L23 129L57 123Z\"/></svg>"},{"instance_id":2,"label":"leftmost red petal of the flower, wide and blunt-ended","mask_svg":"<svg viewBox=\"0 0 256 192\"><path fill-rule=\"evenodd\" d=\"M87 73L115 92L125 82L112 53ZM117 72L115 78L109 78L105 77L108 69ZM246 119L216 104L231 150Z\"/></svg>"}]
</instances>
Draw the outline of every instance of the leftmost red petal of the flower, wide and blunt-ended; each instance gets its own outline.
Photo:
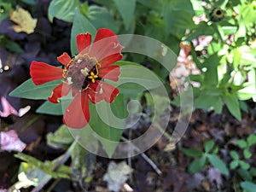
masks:
<instances>
[{"instance_id":1,"label":"leftmost red petal of the flower, wide and blunt-ended","mask_svg":"<svg viewBox=\"0 0 256 192\"><path fill-rule=\"evenodd\" d=\"M36 85L62 79L62 72L61 68L50 66L44 62L32 61L30 66L30 75Z\"/></svg>"}]
</instances>

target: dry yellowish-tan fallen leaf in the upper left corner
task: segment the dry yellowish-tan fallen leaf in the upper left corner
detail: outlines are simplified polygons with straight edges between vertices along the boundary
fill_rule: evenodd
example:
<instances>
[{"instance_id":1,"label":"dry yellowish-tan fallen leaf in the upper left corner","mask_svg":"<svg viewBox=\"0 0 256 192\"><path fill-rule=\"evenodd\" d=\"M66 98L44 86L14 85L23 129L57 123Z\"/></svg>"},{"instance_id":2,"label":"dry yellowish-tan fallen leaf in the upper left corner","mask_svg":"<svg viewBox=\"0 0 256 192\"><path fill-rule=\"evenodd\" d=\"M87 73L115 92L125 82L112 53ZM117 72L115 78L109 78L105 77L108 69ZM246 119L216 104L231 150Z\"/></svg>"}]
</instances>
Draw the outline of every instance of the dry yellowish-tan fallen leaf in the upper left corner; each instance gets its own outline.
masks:
<instances>
[{"instance_id":1,"label":"dry yellowish-tan fallen leaf in the upper left corner","mask_svg":"<svg viewBox=\"0 0 256 192\"><path fill-rule=\"evenodd\" d=\"M27 10L22 8L18 8L11 12L9 19L18 24L16 26L12 26L15 32L26 32L27 34L34 32L38 22L37 19L32 18Z\"/></svg>"}]
</instances>

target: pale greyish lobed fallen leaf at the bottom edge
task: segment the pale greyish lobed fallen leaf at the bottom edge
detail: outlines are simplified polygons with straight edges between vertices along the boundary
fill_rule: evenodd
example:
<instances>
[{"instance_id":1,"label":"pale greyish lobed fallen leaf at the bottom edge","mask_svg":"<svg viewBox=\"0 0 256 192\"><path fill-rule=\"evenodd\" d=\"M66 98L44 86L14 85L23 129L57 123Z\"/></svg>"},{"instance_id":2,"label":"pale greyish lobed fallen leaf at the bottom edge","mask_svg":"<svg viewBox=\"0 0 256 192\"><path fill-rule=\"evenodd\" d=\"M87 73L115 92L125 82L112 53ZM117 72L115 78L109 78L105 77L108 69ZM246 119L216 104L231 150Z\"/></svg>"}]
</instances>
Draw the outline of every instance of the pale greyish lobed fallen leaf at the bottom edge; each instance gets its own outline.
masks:
<instances>
[{"instance_id":1,"label":"pale greyish lobed fallen leaf at the bottom edge","mask_svg":"<svg viewBox=\"0 0 256 192\"><path fill-rule=\"evenodd\" d=\"M111 161L108 165L108 172L103 177L103 180L108 182L108 190L118 192L131 172L131 167L127 166L125 161L119 164Z\"/></svg>"}]
</instances>

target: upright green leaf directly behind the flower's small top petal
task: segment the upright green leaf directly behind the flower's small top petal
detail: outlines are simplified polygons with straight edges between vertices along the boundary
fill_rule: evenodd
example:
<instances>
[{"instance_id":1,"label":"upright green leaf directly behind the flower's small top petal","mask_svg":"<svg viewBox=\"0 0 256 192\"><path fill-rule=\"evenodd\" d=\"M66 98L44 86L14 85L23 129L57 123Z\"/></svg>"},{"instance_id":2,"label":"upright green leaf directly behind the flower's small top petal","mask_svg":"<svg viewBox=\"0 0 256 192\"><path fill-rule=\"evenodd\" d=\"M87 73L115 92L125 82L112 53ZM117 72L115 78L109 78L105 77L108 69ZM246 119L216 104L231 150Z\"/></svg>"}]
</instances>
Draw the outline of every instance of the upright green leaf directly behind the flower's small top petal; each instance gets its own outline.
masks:
<instances>
[{"instance_id":1,"label":"upright green leaf directly behind the flower's small top petal","mask_svg":"<svg viewBox=\"0 0 256 192\"><path fill-rule=\"evenodd\" d=\"M72 55L78 54L76 38L79 33L89 32L92 37L96 35L96 28L82 15L79 9L75 9L73 17L73 26L71 29L70 49Z\"/></svg>"}]
</instances>

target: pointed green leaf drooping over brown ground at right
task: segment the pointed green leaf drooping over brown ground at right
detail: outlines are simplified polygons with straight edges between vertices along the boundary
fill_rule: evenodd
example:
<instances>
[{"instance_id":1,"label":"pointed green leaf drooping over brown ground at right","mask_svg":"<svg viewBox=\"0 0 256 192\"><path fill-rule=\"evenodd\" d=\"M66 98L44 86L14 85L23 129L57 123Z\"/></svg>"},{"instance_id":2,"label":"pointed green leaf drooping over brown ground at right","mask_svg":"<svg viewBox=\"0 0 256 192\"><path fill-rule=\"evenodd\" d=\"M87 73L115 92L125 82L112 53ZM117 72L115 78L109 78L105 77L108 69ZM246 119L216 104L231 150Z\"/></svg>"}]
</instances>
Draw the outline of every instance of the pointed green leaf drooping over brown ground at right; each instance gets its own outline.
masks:
<instances>
[{"instance_id":1,"label":"pointed green leaf drooping over brown ground at right","mask_svg":"<svg viewBox=\"0 0 256 192\"><path fill-rule=\"evenodd\" d=\"M236 119L241 120L241 110L239 107L238 98L236 95L223 95L222 99L224 103L227 105L230 113L236 117Z\"/></svg>"}]
</instances>

